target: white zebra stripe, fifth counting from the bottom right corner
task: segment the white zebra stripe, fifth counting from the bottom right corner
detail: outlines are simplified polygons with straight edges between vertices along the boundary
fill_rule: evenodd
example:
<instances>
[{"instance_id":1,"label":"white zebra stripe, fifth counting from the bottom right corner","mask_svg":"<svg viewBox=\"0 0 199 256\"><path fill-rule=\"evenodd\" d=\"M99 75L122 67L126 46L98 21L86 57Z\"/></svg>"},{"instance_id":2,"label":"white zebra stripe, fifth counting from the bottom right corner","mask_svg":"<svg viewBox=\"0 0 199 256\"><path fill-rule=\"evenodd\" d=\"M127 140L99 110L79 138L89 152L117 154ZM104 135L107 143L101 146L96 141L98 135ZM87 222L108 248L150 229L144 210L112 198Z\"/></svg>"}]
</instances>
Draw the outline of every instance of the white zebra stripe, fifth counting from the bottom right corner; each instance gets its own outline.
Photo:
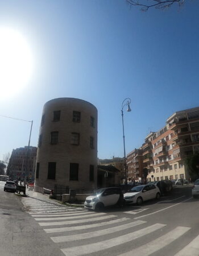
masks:
<instances>
[{"instance_id":1,"label":"white zebra stripe, fifth counting from the bottom right corner","mask_svg":"<svg viewBox=\"0 0 199 256\"><path fill-rule=\"evenodd\" d=\"M99 226L109 226L111 224L128 221L128 220L130 220L130 218L117 218L116 220L104 221L104 222L88 224L88 225L69 226L69 227L67 226L64 228L44 229L44 231L47 233L55 233L55 232L66 232L66 231L72 231L72 230L84 230L84 229L88 230L88 229L92 229L92 228L98 228Z\"/></svg>"}]
</instances>

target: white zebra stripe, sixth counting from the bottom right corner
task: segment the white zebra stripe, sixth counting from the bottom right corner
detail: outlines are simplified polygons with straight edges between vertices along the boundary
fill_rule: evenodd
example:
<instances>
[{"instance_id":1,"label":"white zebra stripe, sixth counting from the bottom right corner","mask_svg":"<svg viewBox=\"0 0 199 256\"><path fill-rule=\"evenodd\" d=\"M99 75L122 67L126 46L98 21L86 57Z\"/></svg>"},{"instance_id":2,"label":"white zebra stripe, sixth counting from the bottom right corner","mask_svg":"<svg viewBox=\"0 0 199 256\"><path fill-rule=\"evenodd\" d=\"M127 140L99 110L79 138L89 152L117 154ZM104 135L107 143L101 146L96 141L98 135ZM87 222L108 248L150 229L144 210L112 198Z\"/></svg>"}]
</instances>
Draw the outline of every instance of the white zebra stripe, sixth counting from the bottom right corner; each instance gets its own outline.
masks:
<instances>
[{"instance_id":1,"label":"white zebra stripe, sixth counting from the bottom right corner","mask_svg":"<svg viewBox=\"0 0 199 256\"><path fill-rule=\"evenodd\" d=\"M100 221L100 220L105 220L106 218L113 218L113 217L117 217L117 216L107 215L107 216L103 216L103 217L89 218L89 219L85 219L85 220L38 222L38 223L39 223L40 226L57 226L57 225L69 225L69 224L77 224L77 223L84 223L84 222Z\"/></svg>"}]
</instances>

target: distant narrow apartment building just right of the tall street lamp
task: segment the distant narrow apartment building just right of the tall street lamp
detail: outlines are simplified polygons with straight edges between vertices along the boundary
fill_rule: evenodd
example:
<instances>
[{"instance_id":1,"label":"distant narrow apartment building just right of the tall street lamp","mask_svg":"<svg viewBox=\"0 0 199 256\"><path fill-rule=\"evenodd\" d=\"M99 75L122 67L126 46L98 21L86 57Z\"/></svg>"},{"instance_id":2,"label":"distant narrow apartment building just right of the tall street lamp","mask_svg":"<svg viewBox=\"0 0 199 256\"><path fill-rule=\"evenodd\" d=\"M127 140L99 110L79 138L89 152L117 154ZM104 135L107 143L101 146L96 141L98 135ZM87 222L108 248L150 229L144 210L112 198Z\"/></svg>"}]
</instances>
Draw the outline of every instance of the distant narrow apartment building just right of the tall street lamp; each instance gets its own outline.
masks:
<instances>
[{"instance_id":1,"label":"distant narrow apartment building just right of the tall street lamp","mask_svg":"<svg viewBox=\"0 0 199 256\"><path fill-rule=\"evenodd\" d=\"M143 155L142 148L135 148L126 157L127 179L129 181L139 181L143 178Z\"/></svg>"}]
</instances>

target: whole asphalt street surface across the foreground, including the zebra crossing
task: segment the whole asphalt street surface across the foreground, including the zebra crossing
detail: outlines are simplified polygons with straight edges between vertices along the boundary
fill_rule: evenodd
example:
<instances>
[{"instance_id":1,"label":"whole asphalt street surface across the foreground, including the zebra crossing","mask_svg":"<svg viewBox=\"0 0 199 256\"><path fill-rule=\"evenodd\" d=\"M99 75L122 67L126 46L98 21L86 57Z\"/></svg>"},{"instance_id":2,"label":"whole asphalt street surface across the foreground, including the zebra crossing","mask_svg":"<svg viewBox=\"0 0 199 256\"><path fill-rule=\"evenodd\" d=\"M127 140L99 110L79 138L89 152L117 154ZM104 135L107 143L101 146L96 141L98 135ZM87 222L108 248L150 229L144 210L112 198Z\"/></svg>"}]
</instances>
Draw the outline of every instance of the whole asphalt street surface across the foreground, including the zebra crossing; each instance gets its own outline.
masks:
<instances>
[{"instance_id":1,"label":"whole asphalt street surface across the foreground, including the zebra crossing","mask_svg":"<svg viewBox=\"0 0 199 256\"><path fill-rule=\"evenodd\" d=\"M1 184L0 196L2 256L199 255L199 199L192 198L190 186L179 185L171 196L140 207L99 213L19 197L3 192Z\"/></svg>"}]
</instances>

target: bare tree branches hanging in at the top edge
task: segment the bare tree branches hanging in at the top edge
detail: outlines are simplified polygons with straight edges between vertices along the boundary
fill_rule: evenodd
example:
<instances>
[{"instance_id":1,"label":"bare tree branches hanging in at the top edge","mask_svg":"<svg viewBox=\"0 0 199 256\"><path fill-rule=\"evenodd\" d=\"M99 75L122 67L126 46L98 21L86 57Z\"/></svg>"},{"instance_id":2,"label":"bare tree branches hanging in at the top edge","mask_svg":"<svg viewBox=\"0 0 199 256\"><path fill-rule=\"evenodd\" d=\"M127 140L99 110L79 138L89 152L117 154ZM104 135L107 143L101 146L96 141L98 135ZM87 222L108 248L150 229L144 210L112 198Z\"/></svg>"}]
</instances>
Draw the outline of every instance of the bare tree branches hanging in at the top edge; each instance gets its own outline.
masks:
<instances>
[{"instance_id":1,"label":"bare tree branches hanging in at the top edge","mask_svg":"<svg viewBox=\"0 0 199 256\"><path fill-rule=\"evenodd\" d=\"M174 4L183 5L185 0L126 0L130 6L140 6L142 11L150 8L167 9Z\"/></svg>"}]
</instances>

